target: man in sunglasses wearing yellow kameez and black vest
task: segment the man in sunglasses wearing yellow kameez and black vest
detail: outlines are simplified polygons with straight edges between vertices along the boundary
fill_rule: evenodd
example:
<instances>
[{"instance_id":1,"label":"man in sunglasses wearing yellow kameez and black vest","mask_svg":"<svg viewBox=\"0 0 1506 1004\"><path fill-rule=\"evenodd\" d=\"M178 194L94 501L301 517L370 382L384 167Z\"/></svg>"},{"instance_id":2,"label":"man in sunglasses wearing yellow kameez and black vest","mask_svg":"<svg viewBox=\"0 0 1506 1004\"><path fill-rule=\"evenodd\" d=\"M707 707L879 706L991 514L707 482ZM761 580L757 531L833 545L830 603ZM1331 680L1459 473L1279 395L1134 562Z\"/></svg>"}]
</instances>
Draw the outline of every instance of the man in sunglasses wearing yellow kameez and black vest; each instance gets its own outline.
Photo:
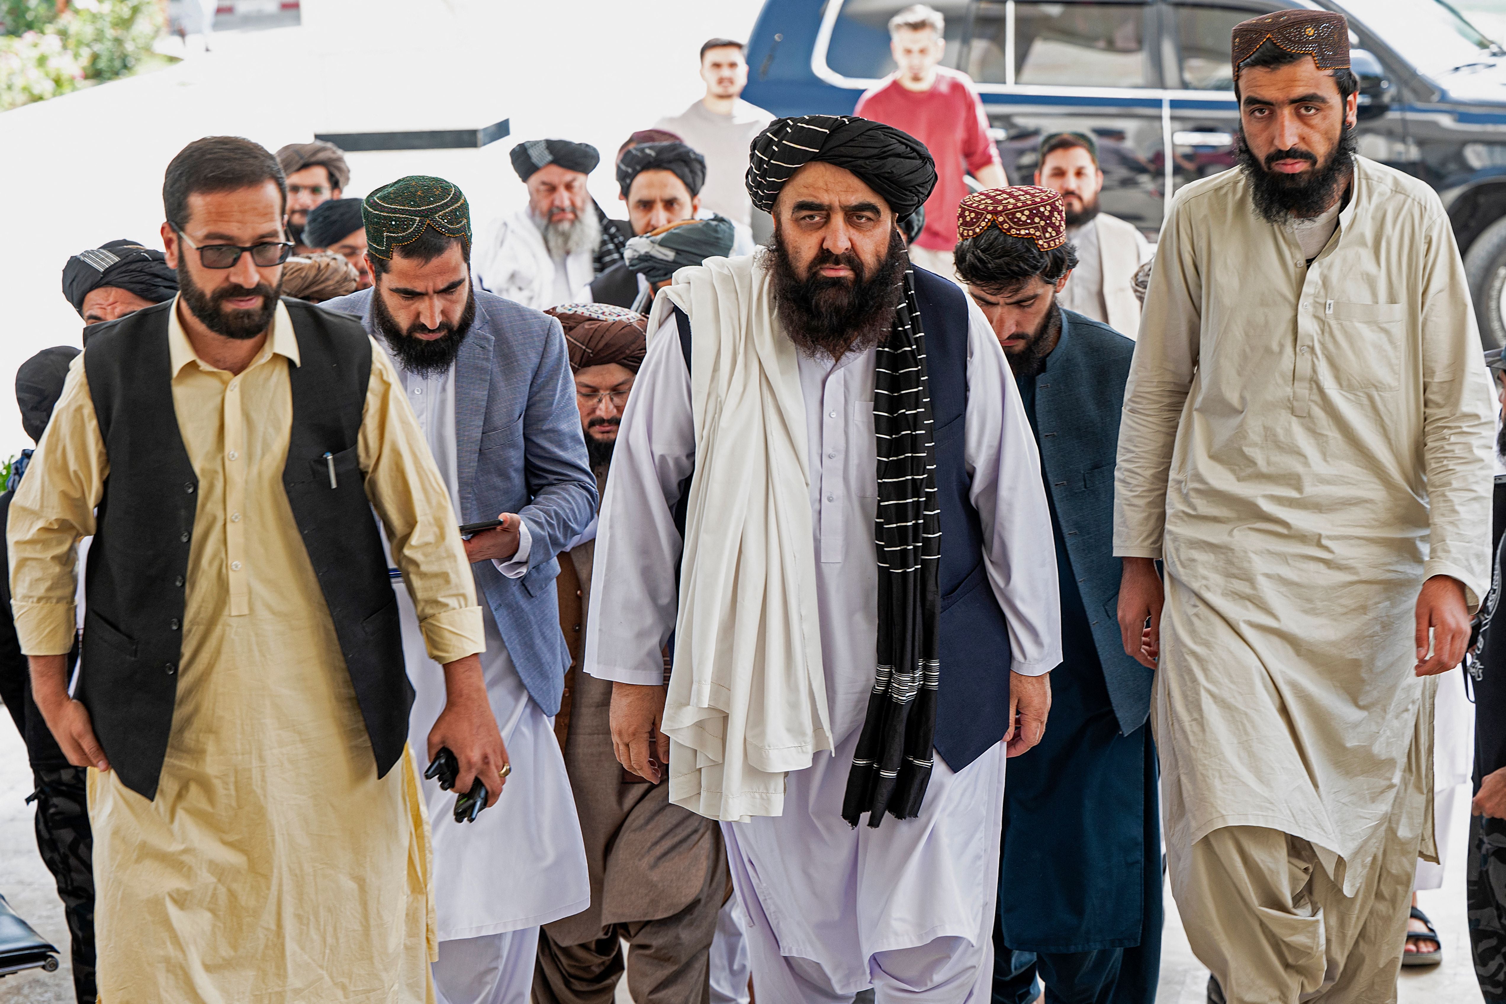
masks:
<instances>
[{"instance_id":1,"label":"man in sunglasses wearing yellow kameez and black vest","mask_svg":"<svg viewBox=\"0 0 1506 1004\"><path fill-rule=\"evenodd\" d=\"M95 327L8 533L36 706L90 768L99 999L432 999L413 689L372 509L444 665L416 742L495 801L508 754L444 483L360 325L279 300L273 155L190 143L163 202L181 294Z\"/></svg>"}]
</instances>

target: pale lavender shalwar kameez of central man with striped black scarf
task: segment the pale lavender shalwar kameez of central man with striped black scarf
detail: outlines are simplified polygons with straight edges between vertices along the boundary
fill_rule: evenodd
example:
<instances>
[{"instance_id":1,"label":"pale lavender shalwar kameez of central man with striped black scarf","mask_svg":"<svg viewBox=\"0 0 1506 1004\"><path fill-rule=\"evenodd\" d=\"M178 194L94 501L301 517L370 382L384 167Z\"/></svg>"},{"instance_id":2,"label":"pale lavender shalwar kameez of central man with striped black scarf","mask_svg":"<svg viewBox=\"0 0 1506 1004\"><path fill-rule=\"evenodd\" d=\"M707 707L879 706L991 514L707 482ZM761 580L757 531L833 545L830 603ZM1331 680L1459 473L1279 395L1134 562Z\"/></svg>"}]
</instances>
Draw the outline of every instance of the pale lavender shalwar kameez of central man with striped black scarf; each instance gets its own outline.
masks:
<instances>
[{"instance_id":1,"label":"pale lavender shalwar kameez of central man with striped black scarf","mask_svg":"<svg viewBox=\"0 0 1506 1004\"><path fill-rule=\"evenodd\" d=\"M919 819L854 829L840 814L876 662L873 360L872 349L834 364L800 358L837 748L788 774L782 816L721 828L761 999L837 1002L875 987L880 1004L982 1002L992 980L1003 744L961 772L937 757ZM967 367L965 455L983 557L995 593L1009 595L1001 607L1021 611L1011 620L1014 670L1039 674L1060 662L1050 513L1014 376L971 303ZM693 464L690 373L670 321L651 333L617 434L587 626L592 676L663 682L681 552L672 506Z\"/></svg>"}]
</instances>

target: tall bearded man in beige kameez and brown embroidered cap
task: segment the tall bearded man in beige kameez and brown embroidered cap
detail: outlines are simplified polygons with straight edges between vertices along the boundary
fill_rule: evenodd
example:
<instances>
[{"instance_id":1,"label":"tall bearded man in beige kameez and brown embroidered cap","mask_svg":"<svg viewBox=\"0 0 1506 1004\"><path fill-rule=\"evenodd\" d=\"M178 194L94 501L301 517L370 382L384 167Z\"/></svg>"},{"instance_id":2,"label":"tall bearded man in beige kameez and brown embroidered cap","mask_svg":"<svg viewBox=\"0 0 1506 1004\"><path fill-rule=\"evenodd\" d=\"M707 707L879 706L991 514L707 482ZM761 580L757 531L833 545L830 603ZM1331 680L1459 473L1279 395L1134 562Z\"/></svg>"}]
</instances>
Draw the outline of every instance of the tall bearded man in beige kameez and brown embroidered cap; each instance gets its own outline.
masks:
<instances>
[{"instance_id":1,"label":"tall bearded man in beige kameez and brown embroidered cap","mask_svg":"<svg viewBox=\"0 0 1506 1004\"><path fill-rule=\"evenodd\" d=\"M1431 677L1491 578L1489 382L1438 196L1352 152L1343 17L1232 50L1241 170L1178 194L1125 390L1119 626L1214 999L1392 1001Z\"/></svg>"}]
</instances>

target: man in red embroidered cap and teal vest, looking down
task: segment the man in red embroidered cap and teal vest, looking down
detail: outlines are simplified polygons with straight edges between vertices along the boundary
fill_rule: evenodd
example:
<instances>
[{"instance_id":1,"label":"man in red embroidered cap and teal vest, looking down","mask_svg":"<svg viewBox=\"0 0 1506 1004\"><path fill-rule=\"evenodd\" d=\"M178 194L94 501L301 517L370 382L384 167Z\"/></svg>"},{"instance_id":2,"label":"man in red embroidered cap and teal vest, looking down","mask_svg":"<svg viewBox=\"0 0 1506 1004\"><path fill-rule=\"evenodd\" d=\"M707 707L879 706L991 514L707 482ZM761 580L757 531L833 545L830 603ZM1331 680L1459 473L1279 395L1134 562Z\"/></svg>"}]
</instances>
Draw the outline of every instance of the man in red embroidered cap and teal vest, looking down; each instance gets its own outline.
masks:
<instances>
[{"instance_id":1,"label":"man in red embroidered cap and teal vest, looking down","mask_svg":"<svg viewBox=\"0 0 1506 1004\"><path fill-rule=\"evenodd\" d=\"M958 211L956 274L998 336L1041 449L1051 500L1062 665L1051 727L1009 765L998 866L994 1001L1142 1004L1161 957L1161 837L1151 671L1125 655L1108 607L1114 449L1134 343L1063 310L1077 248L1063 199L1020 185Z\"/></svg>"}]
</instances>

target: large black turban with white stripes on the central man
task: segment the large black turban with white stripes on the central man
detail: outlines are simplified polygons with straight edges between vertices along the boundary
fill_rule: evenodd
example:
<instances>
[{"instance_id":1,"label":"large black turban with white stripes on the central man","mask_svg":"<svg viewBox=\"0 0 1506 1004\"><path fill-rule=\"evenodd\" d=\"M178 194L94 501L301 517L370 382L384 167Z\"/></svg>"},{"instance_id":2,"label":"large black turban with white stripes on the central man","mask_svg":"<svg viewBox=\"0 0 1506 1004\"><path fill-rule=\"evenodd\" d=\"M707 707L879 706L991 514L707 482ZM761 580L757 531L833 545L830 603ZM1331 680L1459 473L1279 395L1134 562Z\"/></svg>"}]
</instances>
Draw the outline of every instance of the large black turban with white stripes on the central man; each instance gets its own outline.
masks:
<instances>
[{"instance_id":1,"label":"large black turban with white stripes on the central man","mask_svg":"<svg viewBox=\"0 0 1506 1004\"><path fill-rule=\"evenodd\" d=\"M937 185L937 166L925 143L851 114L774 119L748 154L748 197L764 212L774 211L779 190L810 161L852 172L901 218L923 206Z\"/></svg>"}]
</instances>

